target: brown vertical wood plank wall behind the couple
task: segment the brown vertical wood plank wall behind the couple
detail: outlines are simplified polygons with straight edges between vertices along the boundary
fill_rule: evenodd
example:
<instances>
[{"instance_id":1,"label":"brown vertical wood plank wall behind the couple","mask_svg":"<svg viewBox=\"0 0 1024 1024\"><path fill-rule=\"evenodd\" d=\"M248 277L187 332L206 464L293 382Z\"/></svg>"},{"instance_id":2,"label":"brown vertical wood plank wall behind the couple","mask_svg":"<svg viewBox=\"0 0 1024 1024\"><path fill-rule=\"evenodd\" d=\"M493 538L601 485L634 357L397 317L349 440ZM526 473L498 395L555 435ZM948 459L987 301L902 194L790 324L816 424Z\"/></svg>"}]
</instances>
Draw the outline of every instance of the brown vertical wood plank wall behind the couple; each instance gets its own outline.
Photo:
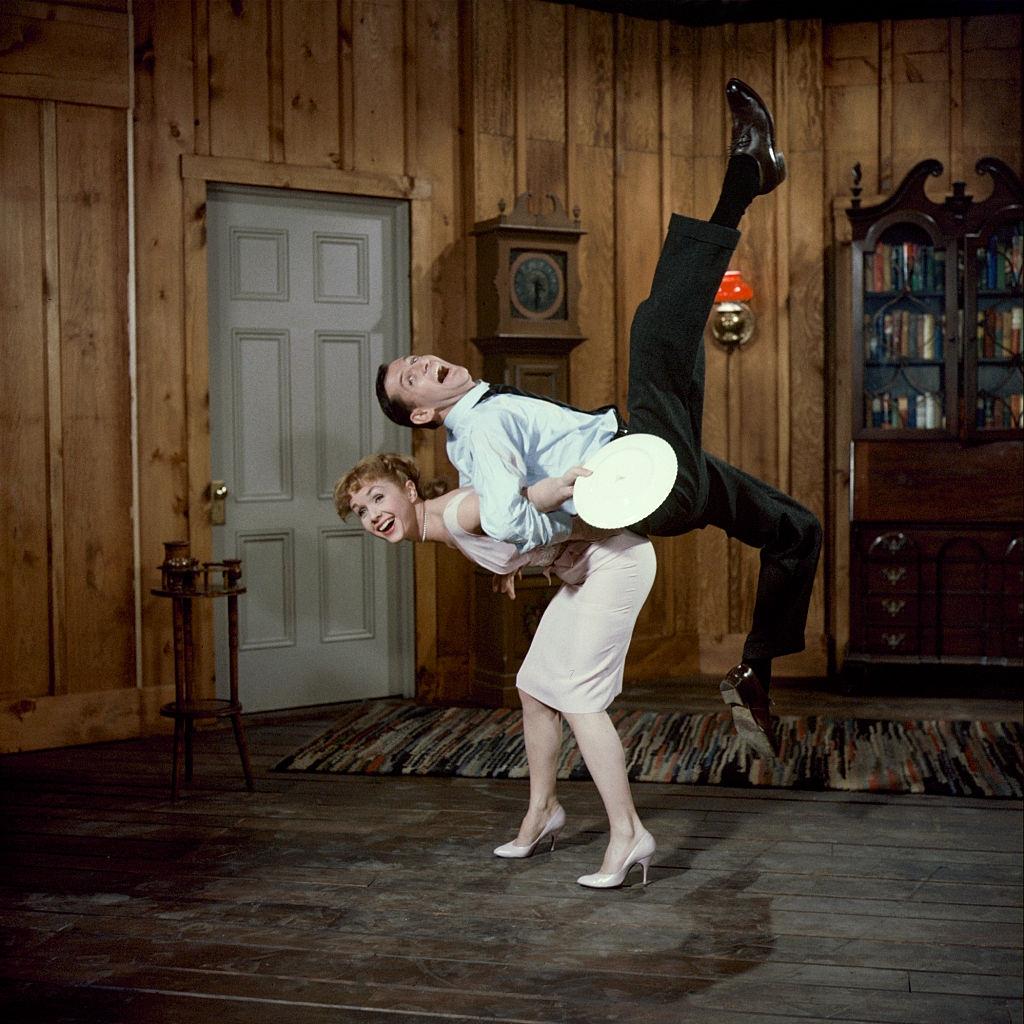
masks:
<instances>
[{"instance_id":1,"label":"brown vertical wood plank wall behind the couple","mask_svg":"<svg viewBox=\"0 0 1024 1024\"><path fill-rule=\"evenodd\" d=\"M828 523L808 651L782 671L826 669L846 599L834 201L854 161L867 191L926 157L959 177L988 154L1020 167L1020 16L695 29L544 0L26 0L0 18L0 749L146 731L166 699L154 566L165 540L210 540L206 180L409 198L414 344L476 370L469 230L501 199L555 193L587 230L572 398L623 401L669 214L706 217L718 194L730 75L770 101L791 181L744 220L758 333L709 347L705 439ZM447 469L440 437L414 447ZM658 555L633 678L722 670L756 553L701 531ZM454 553L418 552L425 698L467 692L469 583Z\"/></svg>"}]
</instances>

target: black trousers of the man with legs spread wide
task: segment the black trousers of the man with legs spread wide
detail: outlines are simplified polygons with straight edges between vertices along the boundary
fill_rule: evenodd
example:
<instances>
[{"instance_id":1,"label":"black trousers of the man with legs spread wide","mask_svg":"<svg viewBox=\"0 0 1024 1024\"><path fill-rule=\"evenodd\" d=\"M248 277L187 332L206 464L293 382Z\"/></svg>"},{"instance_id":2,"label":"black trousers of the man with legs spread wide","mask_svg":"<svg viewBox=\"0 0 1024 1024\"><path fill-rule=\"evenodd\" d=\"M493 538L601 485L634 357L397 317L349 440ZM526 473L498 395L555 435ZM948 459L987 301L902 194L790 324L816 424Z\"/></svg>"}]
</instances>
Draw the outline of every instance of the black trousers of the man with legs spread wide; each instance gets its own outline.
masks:
<instances>
[{"instance_id":1,"label":"black trousers of the man with legs spread wide","mask_svg":"<svg viewBox=\"0 0 1024 1024\"><path fill-rule=\"evenodd\" d=\"M679 472L660 508L632 528L655 537L718 526L761 549L754 623L743 658L804 649L821 549L817 517L787 495L700 446L703 332L739 232L673 214L650 295L630 335L629 429L657 434Z\"/></svg>"}]
</instances>

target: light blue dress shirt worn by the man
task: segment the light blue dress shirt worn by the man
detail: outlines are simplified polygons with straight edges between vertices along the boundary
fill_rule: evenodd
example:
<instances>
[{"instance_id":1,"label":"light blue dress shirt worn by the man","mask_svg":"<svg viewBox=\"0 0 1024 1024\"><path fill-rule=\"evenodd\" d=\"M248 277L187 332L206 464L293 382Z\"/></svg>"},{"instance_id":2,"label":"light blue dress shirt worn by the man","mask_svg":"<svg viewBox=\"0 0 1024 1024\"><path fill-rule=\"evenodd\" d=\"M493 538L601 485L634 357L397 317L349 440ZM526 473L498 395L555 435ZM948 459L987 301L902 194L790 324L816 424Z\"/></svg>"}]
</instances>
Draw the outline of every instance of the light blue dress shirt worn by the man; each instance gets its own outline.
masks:
<instances>
[{"instance_id":1,"label":"light blue dress shirt worn by the man","mask_svg":"<svg viewBox=\"0 0 1024 1024\"><path fill-rule=\"evenodd\" d=\"M498 394L480 402L490 385L480 381L449 411L447 456L460 486L480 498L483 531L516 550L565 540L575 514L571 501L539 512L522 495L546 476L561 476L618 432L614 410L597 414L562 409L543 398Z\"/></svg>"}]
</instances>

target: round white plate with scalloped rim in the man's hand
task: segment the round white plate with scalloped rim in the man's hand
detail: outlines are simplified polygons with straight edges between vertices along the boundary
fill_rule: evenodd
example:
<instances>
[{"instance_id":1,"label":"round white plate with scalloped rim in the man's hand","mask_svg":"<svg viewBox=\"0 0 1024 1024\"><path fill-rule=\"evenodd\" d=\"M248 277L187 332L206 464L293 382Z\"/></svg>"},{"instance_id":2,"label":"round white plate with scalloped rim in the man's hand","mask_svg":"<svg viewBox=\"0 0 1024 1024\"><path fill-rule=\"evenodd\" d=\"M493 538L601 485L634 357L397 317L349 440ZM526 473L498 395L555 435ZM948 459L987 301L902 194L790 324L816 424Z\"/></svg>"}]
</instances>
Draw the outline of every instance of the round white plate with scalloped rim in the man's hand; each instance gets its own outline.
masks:
<instances>
[{"instance_id":1,"label":"round white plate with scalloped rim in the man's hand","mask_svg":"<svg viewBox=\"0 0 1024 1024\"><path fill-rule=\"evenodd\" d=\"M591 476L575 481L580 517L601 529L630 526L651 514L676 482L676 453L654 434L626 434L609 441L584 465Z\"/></svg>"}]
</instances>

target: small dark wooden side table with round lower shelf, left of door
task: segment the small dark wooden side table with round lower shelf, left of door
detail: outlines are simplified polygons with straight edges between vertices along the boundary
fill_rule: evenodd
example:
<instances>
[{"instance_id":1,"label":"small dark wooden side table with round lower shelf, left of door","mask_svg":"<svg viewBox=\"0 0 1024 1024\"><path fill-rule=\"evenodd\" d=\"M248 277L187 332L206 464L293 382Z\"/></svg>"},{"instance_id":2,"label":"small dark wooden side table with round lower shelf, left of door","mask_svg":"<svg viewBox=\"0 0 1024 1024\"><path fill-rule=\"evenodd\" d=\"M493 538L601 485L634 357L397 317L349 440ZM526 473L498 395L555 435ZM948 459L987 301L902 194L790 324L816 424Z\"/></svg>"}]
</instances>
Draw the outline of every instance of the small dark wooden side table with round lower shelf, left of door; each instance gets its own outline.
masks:
<instances>
[{"instance_id":1,"label":"small dark wooden side table with round lower shelf, left of door","mask_svg":"<svg viewBox=\"0 0 1024 1024\"><path fill-rule=\"evenodd\" d=\"M160 714L174 719L174 765L171 774L171 799L178 799L178 777L184 762L185 781L193 777L193 731L197 719L230 718L234 741L242 758L246 786L253 788L249 746L242 727L242 703L239 701L239 594L242 561L225 558L222 562L200 562L189 553L187 541L165 541L164 562L160 566L161 586L153 589L157 597L171 599L174 615L174 700L164 705ZM196 649L193 640L193 601L227 598L227 643L229 697L197 699L193 695Z\"/></svg>"}]
</instances>

